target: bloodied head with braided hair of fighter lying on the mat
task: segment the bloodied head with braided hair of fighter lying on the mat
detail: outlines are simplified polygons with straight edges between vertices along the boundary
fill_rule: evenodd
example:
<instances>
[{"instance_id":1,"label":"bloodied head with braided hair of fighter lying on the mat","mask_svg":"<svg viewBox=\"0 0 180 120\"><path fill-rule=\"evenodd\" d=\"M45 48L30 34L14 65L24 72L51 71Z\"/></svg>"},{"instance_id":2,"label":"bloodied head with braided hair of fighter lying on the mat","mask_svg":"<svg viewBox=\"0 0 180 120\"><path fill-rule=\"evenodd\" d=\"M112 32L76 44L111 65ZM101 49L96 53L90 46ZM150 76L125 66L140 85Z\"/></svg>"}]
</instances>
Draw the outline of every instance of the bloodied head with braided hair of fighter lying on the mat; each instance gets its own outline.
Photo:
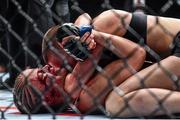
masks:
<instances>
[{"instance_id":1,"label":"bloodied head with braided hair of fighter lying on the mat","mask_svg":"<svg viewBox=\"0 0 180 120\"><path fill-rule=\"evenodd\" d=\"M15 104L18 109L26 113L23 105L27 110L33 111L43 101L50 107L62 105L66 93L63 89L65 76L61 75L61 71L63 70L57 72L50 65L24 70L17 77L14 86Z\"/></svg>"}]
</instances>

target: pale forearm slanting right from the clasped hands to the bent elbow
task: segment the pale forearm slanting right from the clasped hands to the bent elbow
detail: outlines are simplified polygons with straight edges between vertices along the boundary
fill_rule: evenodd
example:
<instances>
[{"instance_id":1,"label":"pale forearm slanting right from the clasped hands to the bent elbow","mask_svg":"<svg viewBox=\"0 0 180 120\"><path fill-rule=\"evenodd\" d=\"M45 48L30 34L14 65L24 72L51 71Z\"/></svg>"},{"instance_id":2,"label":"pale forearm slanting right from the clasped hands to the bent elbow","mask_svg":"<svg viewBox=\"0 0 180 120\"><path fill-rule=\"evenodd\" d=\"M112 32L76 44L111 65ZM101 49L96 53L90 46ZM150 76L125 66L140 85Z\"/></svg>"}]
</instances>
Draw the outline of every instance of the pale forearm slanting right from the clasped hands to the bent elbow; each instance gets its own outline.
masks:
<instances>
[{"instance_id":1,"label":"pale forearm slanting right from the clasped hands to the bent elbow","mask_svg":"<svg viewBox=\"0 0 180 120\"><path fill-rule=\"evenodd\" d=\"M111 34L94 31L95 41L119 57L128 57L133 51L144 51L138 44ZM145 51L144 51L145 52Z\"/></svg>"}]
</instances>

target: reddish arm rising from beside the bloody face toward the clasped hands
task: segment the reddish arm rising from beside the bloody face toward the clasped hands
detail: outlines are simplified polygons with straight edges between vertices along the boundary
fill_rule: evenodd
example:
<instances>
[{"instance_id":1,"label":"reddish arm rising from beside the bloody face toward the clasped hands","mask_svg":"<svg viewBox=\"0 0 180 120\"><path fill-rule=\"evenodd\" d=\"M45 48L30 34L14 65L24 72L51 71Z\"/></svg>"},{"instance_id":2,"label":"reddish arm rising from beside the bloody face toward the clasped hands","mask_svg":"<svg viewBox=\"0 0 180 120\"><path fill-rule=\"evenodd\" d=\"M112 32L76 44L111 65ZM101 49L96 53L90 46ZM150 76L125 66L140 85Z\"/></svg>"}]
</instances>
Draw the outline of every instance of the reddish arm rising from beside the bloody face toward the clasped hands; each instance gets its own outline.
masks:
<instances>
[{"instance_id":1,"label":"reddish arm rising from beside the bloody face toward the clasped hands","mask_svg":"<svg viewBox=\"0 0 180 120\"><path fill-rule=\"evenodd\" d=\"M90 58L84 62L78 62L73 71L66 77L64 88L73 99L79 96L80 90L82 89L81 85L85 84L92 76L96 63L98 63L101 57L102 46L97 46L92 52Z\"/></svg>"}]
</instances>

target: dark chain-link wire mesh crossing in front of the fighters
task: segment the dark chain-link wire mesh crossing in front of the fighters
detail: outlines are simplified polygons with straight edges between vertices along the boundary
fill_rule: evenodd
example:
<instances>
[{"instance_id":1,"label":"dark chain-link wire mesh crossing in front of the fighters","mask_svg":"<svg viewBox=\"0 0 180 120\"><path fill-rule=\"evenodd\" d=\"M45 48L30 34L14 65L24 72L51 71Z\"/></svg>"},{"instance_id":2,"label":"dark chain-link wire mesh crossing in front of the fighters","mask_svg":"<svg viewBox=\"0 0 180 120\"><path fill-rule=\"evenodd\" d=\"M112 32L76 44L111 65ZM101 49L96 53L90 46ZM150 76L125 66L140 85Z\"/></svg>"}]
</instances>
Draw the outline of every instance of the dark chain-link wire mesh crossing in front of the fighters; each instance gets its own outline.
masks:
<instances>
[{"instance_id":1,"label":"dark chain-link wire mesh crossing in front of the fighters","mask_svg":"<svg viewBox=\"0 0 180 120\"><path fill-rule=\"evenodd\" d=\"M36 1L36 0L34 0ZM10 0L11 4L13 4L15 6L15 8L17 9L17 12L16 14L20 14L23 19L25 19L26 22L30 23L30 26L33 28L33 31L38 34L42 39L43 39L43 36L44 36L44 32L39 28L38 26L38 23L36 22L39 18L32 18L28 12L26 10L24 10L24 7L20 4L20 2L18 0ZM42 14L44 14L43 12L47 12L49 14L52 15L52 18L53 20L57 21L58 24L61 24L61 23L64 23L64 21L62 20L62 18L60 16L58 16L56 14L56 12L54 12L52 9L51 9L51 6L47 3L47 0L41 0L40 1L42 5L42 8L44 11L42 11L42 13L40 14L40 16ZM73 10L73 11L76 11L78 12L79 14L82 14L82 13L85 13L86 11L83 10L80 5L81 3L77 0L71 0L70 1L72 3L72 5L70 6L70 8ZM110 0L103 0L102 4L100 5L101 8L104 10L104 9L113 9L113 5L111 5L111 2ZM150 12L152 14L156 14L156 15L163 15L165 14L175 3L178 3L179 1L177 0L168 0L160 9L159 9L159 12L156 13L153 11L152 8L150 8L148 5L143 5L143 10L147 11L147 12ZM36 3L36 2L35 2ZM39 3L36 3L36 4L39 4ZM11 9L11 8L9 8ZM34 11L36 12L36 11ZM59 11L60 12L60 11ZM119 18L119 21L121 23L123 23L124 27L127 27L127 25L125 24L124 22L124 19L126 18L126 16L124 17L121 17L121 16L118 16L118 14L112 10L112 13L117 17ZM12 36L13 36L13 39L12 40L15 40L15 41L18 41L19 43L21 43L21 51L20 52L26 52L28 53L28 55L30 55L35 61L36 61L36 64L37 64L37 67L42 67L42 62L40 60L40 57L41 56L38 56L36 53L34 53L31 48L29 48L29 46L27 45L27 43L25 42L24 38L16 31L14 30L14 26L12 26L12 21L13 19L12 18L16 18L16 15L13 15L11 17L11 19L8 19L6 17L4 17L3 15L0 14L0 24L2 23L3 25L5 25L5 28L7 30L7 32L9 32ZM19 24L19 23L17 23ZM2 25L0 25L1 27ZM156 24L148 31L149 33L155 28L159 26L162 31L164 33L166 33L167 35L169 35L170 37L173 38L173 34L171 33L171 31L169 31L168 29L166 29L163 25L160 24L159 22L159 18L157 17L156 19ZM19 26L19 27L22 27L22 26ZM3 30L3 28L0 28L0 30ZM116 31L114 31L116 32ZM133 29L133 28L130 28L130 32L136 36L137 38L141 38L140 39L140 43L144 43L144 39ZM29 33L30 34L30 33ZM3 36L0 36L0 40L3 41L5 40L5 35ZM0 41L0 42L1 42ZM51 42L51 40L47 40L47 41L50 41L48 42L48 46L46 49L50 49L51 51L53 51L60 59L62 59L64 61L64 66L65 68L68 70L68 71L72 71L72 67L68 64L68 61L66 60L65 56L63 56L62 54L59 53L58 49L55 48L53 46L53 43ZM107 43L106 45L109 46L109 48L114 51L116 50L117 51L117 48L115 46L113 46L111 43L109 43L108 41L110 40L106 40ZM0 43L1 44L1 43ZM176 89L179 88L179 76L176 76L175 74L171 73L171 71L169 71L168 69L166 69L165 67L163 67L163 65L160 63L160 60L161 60L161 57L155 52L153 51L149 46L145 45L145 44L142 44L142 46L144 47L144 49L146 50L147 53L149 53L151 56L154 57L154 59L156 60L157 62L157 66L158 68L160 68L166 75L168 78L170 78L172 81L173 81L173 84L176 86ZM101 101L100 101L100 98L104 95L104 93L106 93L107 91L109 91L109 89L112 89L114 90L119 96L124 96L124 92L118 88L114 83L113 83L113 79L117 77L118 74L120 74L122 72L123 69L127 69L128 72L130 72L131 74L133 74L137 79L140 80L140 83L141 83L141 88L146 88L147 86L145 86L145 82L146 82L146 79L148 77L150 77L150 75L152 75L155 70L151 71L148 75L146 75L144 78L141 78L140 76L138 76L136 73L137 71L131 66L128 64L128 59L130 57L132 57L135 52L138 50L139 48L135 48L129 55L128 57L126 58L123 58L121 55L119 55L119 57L121 58L124 66L123 67L119 67L119 69L117 70L116 73L114 73L112 76L108 76L108 73L101 67L97 64L97 61L95 60L95 58L93 58L91 55L89 55L89 58L92 60L92 63L95 67L95 70L100 73L107 81L108 81L108 87L105 88L100 94L98 94L97 96L94 96L93 93L89 90L89 88L86 86L86 82L84 81L81 81L81 77L82 76L77 76L78 78L78 87L75 88L73 91L76 91L79 89L79 87L85 91L91 98L93 98L93 104L95 107L93 107L92 109L89 109L89 111L85 114L82 114L80 112L80 110L76 107L76 105L74 105L74 103L71 101L71 97L65 93L63 91L63 88L60 88L58 87L58 84L55 83L55 79L54 78L49 78L51 81L52 81L52 86L48 86L47 87L47 90L44 91L43 93L40 92L39 90L37 90L31 82L28 83L28 87L30 87L31 89L33 89L35 91L35 93L40 96L40 104L38 104L36 106L36 108L33 110L33 112L36 112L38 111L38 109L41 107L41 106L44 106L50 114L52 114L52 118L53 119L56 119L56 114L58 112L63 112L65 109L67 109L67 106L69 106L69 108L72 109L73 112L77 113L77 114L81 114L81 117L83 119L83 117L87 114L90 114L91 112L93 112L94 110L96 110L98 108L98 110L100 110L102 112L102 114L106 115L106 116L110 116L109 113L106 111L104 105L101 104ZM8 60L11 62L12 66L11 67L14 67L18 73L22 72L23 69L20 67L20 65L18 65L16 63L16 60L14 58L14 56L12 56L5 48L3 48L2 46L0 47L0 52L6 56L8 58ZM21 53L20 53L21 54ZM120 53L119 53L120 54ZM30 74L31 75L31 74ZM28 79L28 78L27 78ZM0 80L0 84L3 84L2 81ZM12 91L11 87L10 86L6 86L10 91ZM48 90L51 88L51 87L55 87L58 89L58 91L60 93L63 94L64 96L64 99L65 99L65 103L59 107L59 109L56 111L54 111L49 105L48 103L44 100L44 94L46 92L48 92ZM13 91L12 91L13 92ZM170 118L176 118L177 116L175 116L174 114L170 113L164 106L163 106L163 103L168 99L169 96L171 96L172 92L169 92L163 99L159 99L153 92L151 92L150 90L147 92L158 102L158 108L154 109L151 113L151 115L153 116L154 114L156 114L158 111L164 111L166 113L166 115ZM73 94L73 93L72 93ZM130 101L138 94L138 92L135 92L130 98L125 98L124 99L124 103L125 103L125 106L116 114L121 114L122 112L128 110L130 111L131 113L134 113L135 114L135 111L133 110L133 108L131 108L131 106L129 105ZM17 98L18 101L20 101L21 98ZM0 119L5 119L6 118L6 112L7 110L12 107L14 103L12 102L11 104L8 105L8 107L4 110L2 110L0 108L0 113L1 113L1 117ZM24 105L22 103L20 103L20 105L26 109L24 107ZM28 119L32 119L31 118L31 112L29 110L26 109L26 112L28 113ZM116 116L115 115L115 116ZM139 118L144 118L144 116L139 116Z\"/></svg>"}]
</instances>

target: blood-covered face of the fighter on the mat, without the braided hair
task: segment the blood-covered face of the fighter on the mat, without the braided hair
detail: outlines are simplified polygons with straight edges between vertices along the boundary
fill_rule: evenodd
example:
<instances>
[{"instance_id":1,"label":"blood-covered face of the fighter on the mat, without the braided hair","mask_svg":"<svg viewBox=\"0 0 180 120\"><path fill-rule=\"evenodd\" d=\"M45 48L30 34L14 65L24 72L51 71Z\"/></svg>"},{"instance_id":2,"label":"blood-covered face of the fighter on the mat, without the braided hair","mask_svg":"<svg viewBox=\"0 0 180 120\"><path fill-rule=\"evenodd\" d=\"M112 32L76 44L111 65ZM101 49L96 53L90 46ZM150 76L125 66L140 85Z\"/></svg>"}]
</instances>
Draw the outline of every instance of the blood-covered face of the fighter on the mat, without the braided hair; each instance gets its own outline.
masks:
<instances>
[{"instance_id":1,"label":"blood-covered face of the fighter on the mat, without the braided hair","mask_svg":"<svg viewBox=\"0 0 180 120\"><path fill-rule=\"evenodd\" d=\"M26 70L24 74L28 75L31 85L44 95L44 99L48 105L58 104L64 101L64 73L60 75L59 72L57 75L53 67L46 65L43 68Z\"/></svg>"}]
</instances>

